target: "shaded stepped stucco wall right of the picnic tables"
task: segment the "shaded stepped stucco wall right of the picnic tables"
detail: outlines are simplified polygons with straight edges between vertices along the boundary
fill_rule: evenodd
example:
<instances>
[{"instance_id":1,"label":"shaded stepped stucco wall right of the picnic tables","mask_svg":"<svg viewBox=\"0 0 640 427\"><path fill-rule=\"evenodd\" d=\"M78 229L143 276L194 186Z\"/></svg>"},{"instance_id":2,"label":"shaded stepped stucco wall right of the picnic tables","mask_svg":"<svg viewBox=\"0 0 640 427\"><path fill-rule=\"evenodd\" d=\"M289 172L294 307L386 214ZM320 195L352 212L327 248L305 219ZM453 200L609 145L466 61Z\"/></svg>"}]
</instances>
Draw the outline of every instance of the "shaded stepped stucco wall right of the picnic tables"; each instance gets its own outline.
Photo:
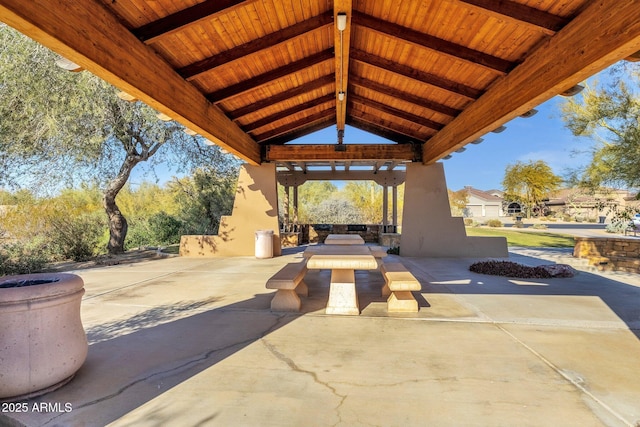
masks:
<instances>
[{"instance_id":1,"label":"shaded stepped stucco wall right of the picnic tables","mask_svg":"<svg viewBox=\"0 0 640 427\"><path fill-rule=\"evenodd\" d=\"M400 255L414 257L507 257L504 237L468 237L452 217L441 163L407 165Z\"/></svg>"}]
</instances>

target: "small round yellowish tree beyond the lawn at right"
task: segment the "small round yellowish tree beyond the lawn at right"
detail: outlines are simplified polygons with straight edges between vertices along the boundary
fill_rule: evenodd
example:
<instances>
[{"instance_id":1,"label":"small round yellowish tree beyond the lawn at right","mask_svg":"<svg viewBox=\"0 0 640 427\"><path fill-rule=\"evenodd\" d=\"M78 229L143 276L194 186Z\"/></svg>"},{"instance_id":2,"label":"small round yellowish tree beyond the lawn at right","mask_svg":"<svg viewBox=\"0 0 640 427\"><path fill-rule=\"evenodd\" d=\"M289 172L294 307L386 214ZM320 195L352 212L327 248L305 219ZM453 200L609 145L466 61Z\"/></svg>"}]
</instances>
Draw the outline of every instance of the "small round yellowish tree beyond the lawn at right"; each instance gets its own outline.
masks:
<instances>
[{"instance_id":1,"label":"small round yellowish tree beyond the lawn at right","mask_svg":"<svg viewBox=\"0 0 640 427\"><path fill-rule=\"evenodd\" d=\"M527 218L531 218L531 212L540 208L542 202L557 191L561 183L562 179L553 173L549 165L537 160L508 165L502 188L505 200L523 204Z\"/></svg>"}]
</instances>

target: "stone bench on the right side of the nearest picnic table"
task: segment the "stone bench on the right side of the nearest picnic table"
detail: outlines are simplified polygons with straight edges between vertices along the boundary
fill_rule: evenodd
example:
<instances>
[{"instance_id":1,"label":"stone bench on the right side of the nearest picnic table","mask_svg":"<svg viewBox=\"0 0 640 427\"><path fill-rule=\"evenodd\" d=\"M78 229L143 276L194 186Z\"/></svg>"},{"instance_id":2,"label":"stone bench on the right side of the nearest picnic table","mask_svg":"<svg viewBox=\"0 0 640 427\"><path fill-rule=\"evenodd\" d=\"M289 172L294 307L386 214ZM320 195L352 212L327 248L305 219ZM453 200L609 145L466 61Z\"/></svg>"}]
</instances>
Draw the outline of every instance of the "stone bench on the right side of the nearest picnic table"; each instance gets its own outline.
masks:
<instances>
[{"instance_id":1,"label":"stone bench on the right side of the nearest picnic table","mask_svg":"<svg viewBox=\"0 0 640 427\"><path fill-rule=\"evenodd\" d=\"M380 272L385 284L382 296L387 298L387 311L390 313L417 313L418 301L411 291L419 291L422 285L407 268L399 262L384 263Z\"/></svg>"}]
</instances>

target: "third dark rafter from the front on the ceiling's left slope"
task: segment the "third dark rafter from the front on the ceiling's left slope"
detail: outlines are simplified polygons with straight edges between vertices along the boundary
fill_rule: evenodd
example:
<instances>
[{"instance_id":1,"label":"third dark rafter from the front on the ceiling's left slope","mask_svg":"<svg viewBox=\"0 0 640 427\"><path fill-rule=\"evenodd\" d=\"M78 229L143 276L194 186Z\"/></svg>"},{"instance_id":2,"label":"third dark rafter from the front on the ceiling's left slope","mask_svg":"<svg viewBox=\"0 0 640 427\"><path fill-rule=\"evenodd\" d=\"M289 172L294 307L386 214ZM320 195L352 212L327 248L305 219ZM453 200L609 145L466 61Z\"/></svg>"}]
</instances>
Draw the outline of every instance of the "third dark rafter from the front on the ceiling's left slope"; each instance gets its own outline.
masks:
<instances>
[{"instance_id":1,"label":"third dark rafter from the front on the ceiling's left slope","mask_svg":"<svg viewBox=\"0 0 640 427\"><path fill-rule=\"evenodd\" d=\"M327 49L322 52L303 58L299 61L291 62L285 65L284 67L280 67L275 70L268 71L266 73L260 74L259 76L251 78L249 80L245 80L235 85L227 86L216 92L209 93L207 94L207 99L211 102L219 103L224 101L225 99L241 95L259 86L265 85L267 83L271 83L274 80L278 80L279 78L297 73L298 71L302 71L306 68L313 67L314 65L320 64L330 59L333 59L333 51L331 49Z\"/></svg>"}]
</instances>

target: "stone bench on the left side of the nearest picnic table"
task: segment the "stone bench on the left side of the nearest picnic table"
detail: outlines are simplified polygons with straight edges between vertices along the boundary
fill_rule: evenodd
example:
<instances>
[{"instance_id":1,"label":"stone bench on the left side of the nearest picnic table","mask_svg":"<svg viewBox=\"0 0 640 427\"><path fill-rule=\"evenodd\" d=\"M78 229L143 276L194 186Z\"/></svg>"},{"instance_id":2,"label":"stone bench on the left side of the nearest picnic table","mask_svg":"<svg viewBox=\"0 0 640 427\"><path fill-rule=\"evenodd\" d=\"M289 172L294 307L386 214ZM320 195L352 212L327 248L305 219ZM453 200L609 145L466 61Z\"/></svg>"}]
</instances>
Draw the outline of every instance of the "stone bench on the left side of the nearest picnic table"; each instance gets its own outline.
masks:
<instances>
[{"instance_id":1,"label":"stone bench on the left side of the nearest picnic table","mask_svg":"<svg viewBox=\"0 0 640 427\"><path fill-rule=\"evenodd\" d=\"M271 300L271 311L300 311L300 297L309 296L309 288L304 283L307 262L290 262L267 280L267 289L277 289Z\"/></svg>"}]
</instances>

